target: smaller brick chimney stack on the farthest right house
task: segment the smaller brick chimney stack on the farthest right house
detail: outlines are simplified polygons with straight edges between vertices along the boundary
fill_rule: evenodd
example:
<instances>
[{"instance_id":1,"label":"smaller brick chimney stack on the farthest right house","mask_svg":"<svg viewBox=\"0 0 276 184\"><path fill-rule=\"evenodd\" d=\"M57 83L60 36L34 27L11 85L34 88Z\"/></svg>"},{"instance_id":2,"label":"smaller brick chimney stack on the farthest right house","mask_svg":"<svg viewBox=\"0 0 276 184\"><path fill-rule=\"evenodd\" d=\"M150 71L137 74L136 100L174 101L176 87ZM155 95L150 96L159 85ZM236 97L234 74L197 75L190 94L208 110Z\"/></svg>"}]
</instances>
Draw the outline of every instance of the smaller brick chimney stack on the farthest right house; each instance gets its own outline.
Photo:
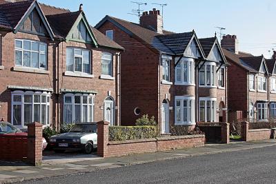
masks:
<instances>
[{"instance_id":1,"label":"smaller brick chimney stack on the farthest right house","mask_svg":"<svg viewBox=\"0 0 276 184\"><path fill-rule=\"evenodd\" d=\"M239 41L236 35L227 34L221 39L221 48L239 54Z\"/></svg>"}]
</instances>

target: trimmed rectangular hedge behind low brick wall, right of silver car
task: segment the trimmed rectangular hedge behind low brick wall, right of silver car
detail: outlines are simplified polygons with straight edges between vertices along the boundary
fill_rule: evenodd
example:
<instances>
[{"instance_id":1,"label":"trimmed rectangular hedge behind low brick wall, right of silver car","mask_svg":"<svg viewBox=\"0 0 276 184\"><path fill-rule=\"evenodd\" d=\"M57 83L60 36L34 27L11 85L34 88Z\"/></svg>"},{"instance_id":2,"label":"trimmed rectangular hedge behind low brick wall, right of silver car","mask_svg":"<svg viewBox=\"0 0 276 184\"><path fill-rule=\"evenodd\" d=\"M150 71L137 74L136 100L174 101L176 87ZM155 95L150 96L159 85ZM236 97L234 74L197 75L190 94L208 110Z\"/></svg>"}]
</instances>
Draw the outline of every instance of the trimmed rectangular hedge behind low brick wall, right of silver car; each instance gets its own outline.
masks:
<instances>
[{"instance_id":1,"label":"trimmed rectangular hedge behind low brick wall, right of silver car","mask_svg":"<svg viewBox=\"0 0 276 184\"><path fill-rule=\"evenodd\" d=\"M109 141L125 141L132 139L149 139L159 136L157 126L111 126Z\"/></svg>"}]
</instances>

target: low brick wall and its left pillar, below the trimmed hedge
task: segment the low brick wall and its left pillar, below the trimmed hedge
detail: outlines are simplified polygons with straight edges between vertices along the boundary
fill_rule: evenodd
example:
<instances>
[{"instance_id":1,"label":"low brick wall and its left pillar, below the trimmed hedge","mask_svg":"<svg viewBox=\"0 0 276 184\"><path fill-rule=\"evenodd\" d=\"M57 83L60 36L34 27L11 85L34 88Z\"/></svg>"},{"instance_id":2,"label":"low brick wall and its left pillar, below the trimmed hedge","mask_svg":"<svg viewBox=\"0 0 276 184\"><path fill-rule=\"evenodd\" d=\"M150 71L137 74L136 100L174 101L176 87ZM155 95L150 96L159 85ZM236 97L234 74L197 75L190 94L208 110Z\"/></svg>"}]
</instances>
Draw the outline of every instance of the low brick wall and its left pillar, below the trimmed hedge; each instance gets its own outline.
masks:
<instances>
[{"instance_id":1,"label":"low brick wall and its left pillar, below the trimmed hedge","mask_svg":"<svg viewBox=\"0 0 276 184\"><path fill-rule=\"evenodd\" d=\"M108 122L100 121L97 127L97 154L102 157L123 156L145 152L204 146L204 135L167 136L126 141L109 141Z\"/></svg>"}]
</instances>

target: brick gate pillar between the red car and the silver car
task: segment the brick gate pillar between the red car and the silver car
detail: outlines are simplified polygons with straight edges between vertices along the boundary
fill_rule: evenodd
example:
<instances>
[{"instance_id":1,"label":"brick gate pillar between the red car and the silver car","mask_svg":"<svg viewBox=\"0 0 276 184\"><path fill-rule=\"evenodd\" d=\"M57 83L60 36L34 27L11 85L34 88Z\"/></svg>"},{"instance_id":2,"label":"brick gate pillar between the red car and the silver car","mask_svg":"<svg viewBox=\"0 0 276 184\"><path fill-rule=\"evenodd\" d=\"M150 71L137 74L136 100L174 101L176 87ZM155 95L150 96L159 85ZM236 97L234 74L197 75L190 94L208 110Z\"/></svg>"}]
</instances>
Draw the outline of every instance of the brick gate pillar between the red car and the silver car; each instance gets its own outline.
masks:
<instances>
[{"instance_id":1,"label":"brick gate pillar between the red car and the silver car","mask_svg":"<svg viewBox=\"0 0 276 184\"><path fill-rule=\"evenodd\" d=\"M32 165L41 165L42 163L42 124L28 124L28 162Z\"/></svg>"}]
</instances>

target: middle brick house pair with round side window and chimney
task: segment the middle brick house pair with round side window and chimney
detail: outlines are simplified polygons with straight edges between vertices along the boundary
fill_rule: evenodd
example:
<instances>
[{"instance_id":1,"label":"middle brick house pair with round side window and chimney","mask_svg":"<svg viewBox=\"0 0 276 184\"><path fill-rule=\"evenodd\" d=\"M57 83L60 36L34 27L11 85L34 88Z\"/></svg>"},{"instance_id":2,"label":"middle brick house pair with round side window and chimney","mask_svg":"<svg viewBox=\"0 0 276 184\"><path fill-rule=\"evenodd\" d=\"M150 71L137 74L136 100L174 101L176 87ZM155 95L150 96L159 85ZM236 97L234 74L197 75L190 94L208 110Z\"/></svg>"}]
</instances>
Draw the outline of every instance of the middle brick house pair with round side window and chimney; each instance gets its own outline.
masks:
<instances>
[{"instance_id":1,"label":"middle brick house pair with round side window and chimney","mask_svg":"<svg viewBox=\"0 0 276 184\"><path fill-rule=\"evenodd\" d=\"M121 54L121 125L155 116L161 133L197 121L227 121L227 66L216 37L163 29L159 10L140 23L106 16L96 26L125 48Z\"/></svg>"}]
</instances>

